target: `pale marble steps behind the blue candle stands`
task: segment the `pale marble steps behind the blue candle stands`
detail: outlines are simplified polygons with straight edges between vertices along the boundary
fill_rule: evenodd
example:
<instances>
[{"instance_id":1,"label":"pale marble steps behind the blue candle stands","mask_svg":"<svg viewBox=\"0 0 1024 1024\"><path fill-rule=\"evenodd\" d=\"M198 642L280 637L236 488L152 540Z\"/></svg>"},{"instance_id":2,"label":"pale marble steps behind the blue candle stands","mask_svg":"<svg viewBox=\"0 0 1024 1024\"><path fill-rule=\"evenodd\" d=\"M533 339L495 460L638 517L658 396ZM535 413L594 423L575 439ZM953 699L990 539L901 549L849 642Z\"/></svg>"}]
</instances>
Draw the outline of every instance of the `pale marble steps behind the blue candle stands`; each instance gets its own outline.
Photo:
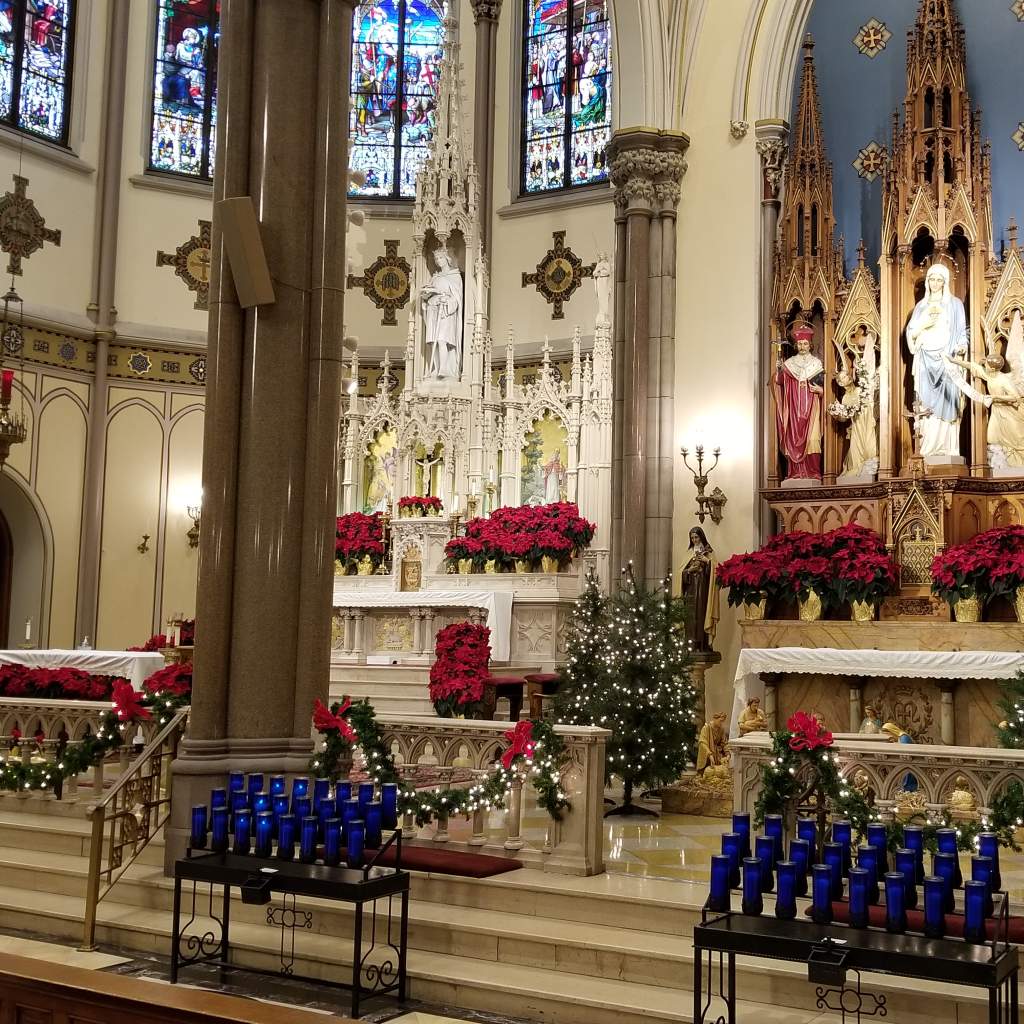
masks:
<instances>
[{"instance_id":1,"label":"pale marble steps behind the blue candle stands","mask_svg":"<svg viewBox=\"0 0 1024 1024\"><path fill-rule=\"evenodd\" d=\"M0 799L0 922L77 940L88 822L25 811L16 801ZM100 903L102 946L167 954L172 887L162 861L158 840ZM698 884L524 869L480 881L418 874L412 896L416 999L551 1024L692 1019L691 935L705 897ZM339 939L351 936L349 908L303 903L314 912L313 931L297 938L296 973L347 976L348 948ZM266 925L266 908L236 900L231 918L237 959L275 969L280 934ZM889 1017L900 1024L985 1019L987 1004L964 990L876 977L867 984L885 991ZM740 962L737 987L754 1014L746 1019L806 1024L821 1013L800 965Z\"/></svg>"}]
</instances>

